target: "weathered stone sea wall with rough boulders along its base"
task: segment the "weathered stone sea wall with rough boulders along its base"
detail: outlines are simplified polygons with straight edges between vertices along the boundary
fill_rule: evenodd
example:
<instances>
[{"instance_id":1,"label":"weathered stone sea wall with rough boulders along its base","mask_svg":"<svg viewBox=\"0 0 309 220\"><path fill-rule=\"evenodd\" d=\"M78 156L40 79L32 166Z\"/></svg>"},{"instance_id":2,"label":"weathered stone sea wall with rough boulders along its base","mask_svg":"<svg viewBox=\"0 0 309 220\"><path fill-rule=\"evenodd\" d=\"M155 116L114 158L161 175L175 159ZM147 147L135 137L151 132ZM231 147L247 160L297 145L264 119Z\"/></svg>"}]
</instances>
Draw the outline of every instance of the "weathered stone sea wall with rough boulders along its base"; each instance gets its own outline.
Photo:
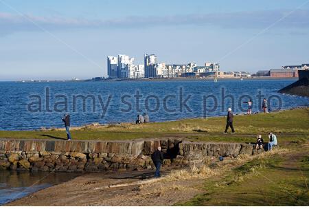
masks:
<instances>
[{"instance_id":1,"label":"weathered stone sea wall with rough boulders along its base","mask_svg":"<svg viewBox=\"0 0 309 220\"><path fill-rule=\"evenodd\" d=\"M239 143L186 142L177 139L134 141L0 140L0 169L98 172L153 168L151 154L161 146L164 166L187 166L205 157L253 155Z\"/></svg>"}]
</instances>

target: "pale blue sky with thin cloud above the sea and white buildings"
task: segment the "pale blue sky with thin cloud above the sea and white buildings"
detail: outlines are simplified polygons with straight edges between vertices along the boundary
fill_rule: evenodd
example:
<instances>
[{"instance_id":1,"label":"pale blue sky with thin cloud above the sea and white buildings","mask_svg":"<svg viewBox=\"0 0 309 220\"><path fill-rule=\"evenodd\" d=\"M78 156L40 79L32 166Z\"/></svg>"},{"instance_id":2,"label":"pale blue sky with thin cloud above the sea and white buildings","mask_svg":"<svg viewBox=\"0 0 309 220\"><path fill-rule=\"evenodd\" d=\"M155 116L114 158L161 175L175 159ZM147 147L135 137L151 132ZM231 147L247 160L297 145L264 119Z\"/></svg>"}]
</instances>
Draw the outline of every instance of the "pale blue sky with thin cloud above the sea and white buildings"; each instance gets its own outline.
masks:
<instances>
[{"instance_id":1,"label":"pale blue sky with thin cloud above the sea and white buildings","mask_svg":"<svg viewBox=\"0 0 309 220\"><path fill-rule=\"evenodd\" d=\"M106 56L223 71L309 62L309 1L0 0L0 80L106 76Z\"/></svg>"}]
</instances>

